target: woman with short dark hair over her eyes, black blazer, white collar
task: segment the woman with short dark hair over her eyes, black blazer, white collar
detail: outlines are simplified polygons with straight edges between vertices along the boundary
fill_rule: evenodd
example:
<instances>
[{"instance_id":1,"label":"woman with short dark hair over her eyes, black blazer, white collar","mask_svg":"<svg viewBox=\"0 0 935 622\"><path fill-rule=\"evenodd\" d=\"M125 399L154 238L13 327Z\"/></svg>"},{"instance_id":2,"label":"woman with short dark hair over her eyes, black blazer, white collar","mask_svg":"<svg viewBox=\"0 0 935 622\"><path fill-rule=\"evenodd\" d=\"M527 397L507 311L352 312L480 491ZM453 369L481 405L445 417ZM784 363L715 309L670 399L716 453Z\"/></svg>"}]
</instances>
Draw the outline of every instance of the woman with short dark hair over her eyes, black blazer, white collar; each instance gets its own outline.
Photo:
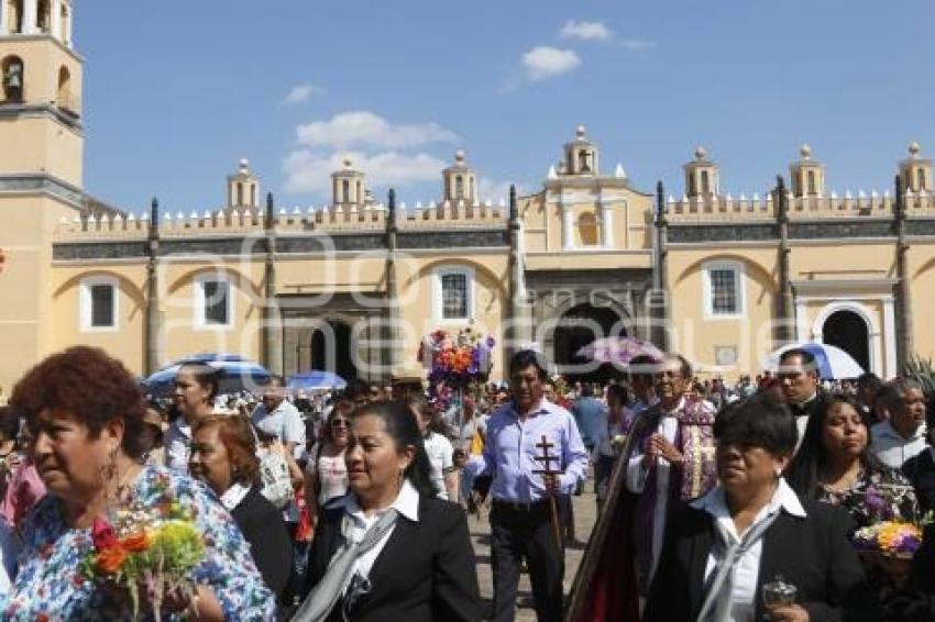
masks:
<instances>
[{"instance_id":1,"label":"woman with short dark hair over her eyes, black blazer, white collar","mask_svg":"<svg viewBox=\"0 0 935 622\"><path fill-rule=\"evenodd\" d=\"M769 393L735 402L714 435L719 484L670 515L644 621L880 620L847 512L782 477L798 437L789 409Z\"/></svg>"}]
</instances>

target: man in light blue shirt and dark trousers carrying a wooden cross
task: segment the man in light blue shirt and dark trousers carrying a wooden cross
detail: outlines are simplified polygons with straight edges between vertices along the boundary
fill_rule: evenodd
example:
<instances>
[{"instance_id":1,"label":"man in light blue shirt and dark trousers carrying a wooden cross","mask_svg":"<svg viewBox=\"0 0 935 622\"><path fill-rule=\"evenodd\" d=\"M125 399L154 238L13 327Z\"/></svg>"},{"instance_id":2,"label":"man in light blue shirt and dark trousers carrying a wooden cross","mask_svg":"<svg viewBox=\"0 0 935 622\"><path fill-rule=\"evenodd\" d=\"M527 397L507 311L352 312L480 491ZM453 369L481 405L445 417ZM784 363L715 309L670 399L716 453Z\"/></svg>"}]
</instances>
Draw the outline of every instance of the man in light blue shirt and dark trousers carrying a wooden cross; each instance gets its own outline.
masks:
<instances>
[{"instance_id":1,"label":"man in light blue shirt and dark trousers carrying a wooden cross","mask_svg":"<svg viewBox=\"0 0 935 622\"><path fill-rule=\"evenodd\" d=\"M571 493L587 470L587 452L574 418L543 398L547 373L540 355L516 353L509 363L513 399L487 422L482 476L493 478L490 493L491 560L494 570L494 620L510 622L516 610L519 568L526 559L536 615L540 622L562 619L564 551L554 541L549 497ZM558 456L541 475L538 446L546 437ZM559 519L561 521L561 519Z\"/></svg>"}]
</instances>

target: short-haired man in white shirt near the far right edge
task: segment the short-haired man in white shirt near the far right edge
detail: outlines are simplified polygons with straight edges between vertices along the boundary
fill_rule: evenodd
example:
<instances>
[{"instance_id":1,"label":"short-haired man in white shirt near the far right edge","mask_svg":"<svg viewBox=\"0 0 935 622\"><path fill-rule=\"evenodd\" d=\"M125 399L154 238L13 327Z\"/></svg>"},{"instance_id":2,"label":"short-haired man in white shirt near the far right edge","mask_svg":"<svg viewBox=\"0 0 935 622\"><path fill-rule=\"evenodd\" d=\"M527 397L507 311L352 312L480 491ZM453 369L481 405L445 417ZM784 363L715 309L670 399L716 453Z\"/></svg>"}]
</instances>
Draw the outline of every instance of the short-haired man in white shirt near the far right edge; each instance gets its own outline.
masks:
<instances>
[{"instance_id":1,"label":"short-haired man in white shirt near the far right edge","mask_svg":"<svg viewBox=\"0 0 935 622\"><path fill-rule=\"evenodd\" d=\"M878 399L889 418L871 429L870 446L881 463L900 469L925 448L925 393L915 380L897 378Z\"/></svg>"}]
</instances>

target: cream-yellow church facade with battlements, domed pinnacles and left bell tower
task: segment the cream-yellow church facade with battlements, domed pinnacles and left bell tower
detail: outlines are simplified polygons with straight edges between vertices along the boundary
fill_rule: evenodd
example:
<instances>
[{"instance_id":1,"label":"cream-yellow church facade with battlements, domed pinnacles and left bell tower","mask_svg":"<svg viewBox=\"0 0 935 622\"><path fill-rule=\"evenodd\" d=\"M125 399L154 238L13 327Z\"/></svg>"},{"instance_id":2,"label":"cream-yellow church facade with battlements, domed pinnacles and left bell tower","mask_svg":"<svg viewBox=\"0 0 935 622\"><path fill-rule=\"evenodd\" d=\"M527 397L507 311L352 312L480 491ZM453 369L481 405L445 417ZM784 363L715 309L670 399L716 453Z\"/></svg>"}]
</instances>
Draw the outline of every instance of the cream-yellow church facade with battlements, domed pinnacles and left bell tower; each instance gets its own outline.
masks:
<instances>
[{"instance_id":1,"label":"cream-yellow church facade with battlements, domed pinnacles and left bell tower","mask_svg":"<svg viewBox=\"0 0 935 622\"><path fill-rule=\"evenodd\" d=\"M217 208L133 214L82 188L72 3L0 0L0 387L73 344L140 375L230 352L284 374L411 378L440 329L492 335L494 378L528 343L593 371L579 351L618 335L725 377L792 341L882 377L935 354L933 173L915 143L881 193L828 191L803 146L769 190L725 196L697 148L676 199L603 166L578 127L541 187L508 200L480 197L459 152L433 202L376 198L346 160L329 204L283 208L244 159Z\"/></svg>"}]
</instances>

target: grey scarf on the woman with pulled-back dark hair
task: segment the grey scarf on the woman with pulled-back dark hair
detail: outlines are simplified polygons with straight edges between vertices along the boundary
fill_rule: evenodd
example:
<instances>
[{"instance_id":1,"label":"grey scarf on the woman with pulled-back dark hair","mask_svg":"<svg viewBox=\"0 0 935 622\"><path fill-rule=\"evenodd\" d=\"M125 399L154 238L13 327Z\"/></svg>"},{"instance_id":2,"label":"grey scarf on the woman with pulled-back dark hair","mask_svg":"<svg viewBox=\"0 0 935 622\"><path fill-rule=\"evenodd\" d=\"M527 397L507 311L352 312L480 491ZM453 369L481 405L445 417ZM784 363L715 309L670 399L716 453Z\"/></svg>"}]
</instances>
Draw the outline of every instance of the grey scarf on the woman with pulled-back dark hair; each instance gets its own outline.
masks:
<instances>
[{"instance_id":1,"label":"grey scarf on the woman with pulled-back dark hair","mask_svg":"<svg viewBox=\"0 0 935 622\"><path fill-rule=\"evenodd\" d=\"M397 514L394 508L389 508L367 530L360 542L354 542L351 538L353 522L349 514L344 514L341 521L341 535L344 536L344 545L331 558L324 576L302 601L301 607L293 617L293 622L321 622L328 618L341 597L341 592L346 589L351 581L351 568L353 568L354 562L383 540L396 524Z\"/></svg>"}]
</instances>

